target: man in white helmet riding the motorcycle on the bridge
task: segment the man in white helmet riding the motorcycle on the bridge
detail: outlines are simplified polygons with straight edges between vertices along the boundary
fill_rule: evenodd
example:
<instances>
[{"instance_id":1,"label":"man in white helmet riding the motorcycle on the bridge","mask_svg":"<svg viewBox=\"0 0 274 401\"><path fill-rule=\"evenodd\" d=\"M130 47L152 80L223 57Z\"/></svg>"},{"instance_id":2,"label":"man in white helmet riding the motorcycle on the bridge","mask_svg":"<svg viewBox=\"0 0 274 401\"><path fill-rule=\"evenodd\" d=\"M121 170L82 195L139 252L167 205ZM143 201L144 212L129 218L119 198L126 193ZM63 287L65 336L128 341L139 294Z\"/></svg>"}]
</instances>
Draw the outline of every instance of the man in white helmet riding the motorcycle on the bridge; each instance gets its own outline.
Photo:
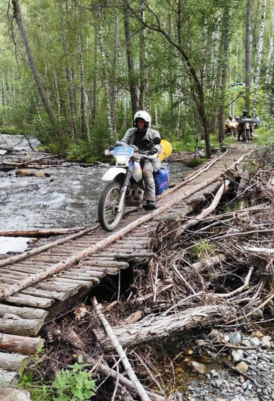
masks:
<instances>
[{"instance_id":1,"label":"man in white helmet riding the motorcycle on the bridge","mask_svg":"<svg viewBox=\"0 0 274 401\"><path fill-rule=\"evenodd\" d=\"M134 114L134 128L129 128L121 142L127 145L135 145L140 150L145 150L148 144L153 143L153 138L160 138L158 131L149 128L151 124L150 115L143 110L137 111ZM149 150L150 154L160 153L161 145L153 145ZM145 210L155 209L155 183L153 178L153 171L160 168L160 159L150 160L146 158L141 159L142 174L144 181L144 195L146 204L143 206Z\"/></svg>"}]
</instances>

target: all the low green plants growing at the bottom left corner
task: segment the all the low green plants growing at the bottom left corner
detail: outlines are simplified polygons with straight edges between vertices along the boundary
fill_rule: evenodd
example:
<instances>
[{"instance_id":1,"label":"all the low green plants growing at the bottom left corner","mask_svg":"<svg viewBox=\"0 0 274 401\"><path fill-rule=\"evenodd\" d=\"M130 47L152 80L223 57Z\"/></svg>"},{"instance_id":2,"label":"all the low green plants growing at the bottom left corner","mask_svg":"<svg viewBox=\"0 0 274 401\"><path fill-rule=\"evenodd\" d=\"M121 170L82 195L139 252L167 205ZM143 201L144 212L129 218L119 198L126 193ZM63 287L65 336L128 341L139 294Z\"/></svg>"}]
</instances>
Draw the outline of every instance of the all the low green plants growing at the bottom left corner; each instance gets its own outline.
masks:
<instances>
[{"instance_id":1,"label":"all the low green plants growing at the bottom left corner","mask_svg":"<svg viewBox=\"0 0 274 401\"><path fill-rule=\"evenodd\" d=\"M28 373L22 375L18 386L30 392L31 401L88 401L95 394L95 381L85 370L87 366L90 365L82 363L79 355L77 362L67 365L69 369L61 369L52 383L36 381Z\"/></svg>"}]
</instances>

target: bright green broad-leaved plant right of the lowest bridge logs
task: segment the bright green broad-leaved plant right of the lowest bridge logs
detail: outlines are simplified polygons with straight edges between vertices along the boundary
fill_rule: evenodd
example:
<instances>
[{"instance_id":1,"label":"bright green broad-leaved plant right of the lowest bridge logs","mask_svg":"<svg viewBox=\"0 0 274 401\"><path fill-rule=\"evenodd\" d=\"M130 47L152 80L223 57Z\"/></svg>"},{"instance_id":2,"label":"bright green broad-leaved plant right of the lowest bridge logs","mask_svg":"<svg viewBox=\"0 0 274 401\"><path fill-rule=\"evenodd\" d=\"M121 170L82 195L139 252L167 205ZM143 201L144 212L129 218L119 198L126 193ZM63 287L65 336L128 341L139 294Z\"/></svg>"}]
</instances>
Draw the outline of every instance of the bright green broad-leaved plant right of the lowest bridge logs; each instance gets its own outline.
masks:
<instances>
[{"instance_id":1,"label":"bright green broad-leaved plant right of the lowest bridge logs","mask_svg":"<svg viewBox=\"0 0 274 401\"><path fill-rule=\"evenodd\" d=\"M67 365L70 369L61 369L52 385L58 390L59 396L54 401L87 401L94 395L95 381L92 374L84 370L90 366L82 363L82 356L78 362Z\"/></svg>"}]
</instances>

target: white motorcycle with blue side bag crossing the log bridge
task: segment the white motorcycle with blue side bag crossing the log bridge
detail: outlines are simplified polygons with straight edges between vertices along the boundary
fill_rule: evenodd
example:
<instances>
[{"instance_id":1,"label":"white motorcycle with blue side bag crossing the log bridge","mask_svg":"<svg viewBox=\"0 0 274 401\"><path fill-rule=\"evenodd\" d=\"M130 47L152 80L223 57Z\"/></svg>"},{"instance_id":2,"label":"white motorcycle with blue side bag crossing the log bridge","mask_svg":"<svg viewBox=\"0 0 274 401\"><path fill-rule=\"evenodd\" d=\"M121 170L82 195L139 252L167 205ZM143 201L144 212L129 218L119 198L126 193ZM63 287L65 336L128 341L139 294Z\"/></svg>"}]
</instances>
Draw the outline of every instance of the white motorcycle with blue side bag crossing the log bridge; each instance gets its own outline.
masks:
<instances>
[{"instance_id":1,"label":"white motorcycle with blue side bag crossing the log bridge","mask_svg":"<svg viewBox=\"0 0 274 401\"><path fill-rule=\"evenodd\" d=\"M107 184L99 199L98 220L105 231L113 231L118 226L124 207L139 207L142 204L144 184L140 160L141 158L156 159L159 155L149 154L149 150L154 144L160 142L160 138L154 138L153 143L147 145L145 150L139 150L134 145L125 146L123 142L116 142L115 146L110 146L104 151L106 156L114 156L116 160L115 166L110 167L101 178L102 181L107 181ZM162 163L160 170L154 173L156 195L162 193L169 185L170 172L166 164Z\"/></svg>"}]
</instances>

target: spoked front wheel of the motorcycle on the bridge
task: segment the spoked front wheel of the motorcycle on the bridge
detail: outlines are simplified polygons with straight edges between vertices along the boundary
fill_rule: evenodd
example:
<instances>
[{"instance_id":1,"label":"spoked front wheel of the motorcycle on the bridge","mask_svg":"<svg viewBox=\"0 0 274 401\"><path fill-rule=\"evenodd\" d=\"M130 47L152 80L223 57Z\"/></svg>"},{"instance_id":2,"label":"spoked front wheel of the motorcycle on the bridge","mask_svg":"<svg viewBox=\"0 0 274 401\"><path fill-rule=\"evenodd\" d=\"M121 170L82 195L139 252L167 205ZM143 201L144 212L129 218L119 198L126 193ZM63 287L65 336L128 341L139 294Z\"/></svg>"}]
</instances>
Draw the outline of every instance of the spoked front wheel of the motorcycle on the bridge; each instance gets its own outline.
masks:
<instances>
[{"instance_id":1,"label":"spoked front wheel of the motorcycle on the bridge","mask_svg":"<svg viewBox=\"0 0 274 401\"><path fill-rule=\"evenodd\" d=\"M119 182L109 183L101 193L98 206L98 219L105 231L113 231L121 221L124 205L121 211L117 213L120 197L121 184Z\"/></svg>"}]
</instances>

